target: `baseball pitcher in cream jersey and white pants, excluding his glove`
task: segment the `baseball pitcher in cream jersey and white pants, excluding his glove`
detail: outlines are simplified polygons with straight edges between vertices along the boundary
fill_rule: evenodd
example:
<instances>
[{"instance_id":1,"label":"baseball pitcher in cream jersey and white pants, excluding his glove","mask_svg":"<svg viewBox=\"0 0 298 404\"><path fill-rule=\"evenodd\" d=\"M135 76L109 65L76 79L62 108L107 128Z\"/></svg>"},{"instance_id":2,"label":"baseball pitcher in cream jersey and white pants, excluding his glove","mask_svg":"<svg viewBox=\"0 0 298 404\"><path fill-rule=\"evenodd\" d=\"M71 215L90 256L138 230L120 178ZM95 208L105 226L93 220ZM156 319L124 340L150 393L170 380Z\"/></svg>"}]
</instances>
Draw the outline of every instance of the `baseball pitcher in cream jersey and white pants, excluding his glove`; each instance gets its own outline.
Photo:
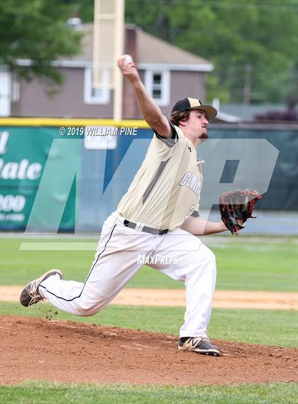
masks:
<instances>
[{"instance_id":1,"label":"baseball pitcher in cream jersey and white pants, excluding his glove","mask_svg":"<svg viewBox=\"0 0 298 404\"><path fill-rule=\"evenodd\" d=\"M199 217L202 160L197 146L207 136L216 109L198 99L184 98L167 119L140 80L132 60L118 67L131 82L145 121L153 129L143 160L116 212L104 222L92 267L84 283L62 280L53 269L31 281L20 297L24 306L47 299L73 315L90 316L108 305L138 271L143 254L149 266L184 282L186 312L178 348L221 355L207 337L216 283L216 261L200 234L226 231L223 222ZM241 217L235 219L241 226ZM241 226L242 227L242 226Z\"/></svg>"}]
</instances>

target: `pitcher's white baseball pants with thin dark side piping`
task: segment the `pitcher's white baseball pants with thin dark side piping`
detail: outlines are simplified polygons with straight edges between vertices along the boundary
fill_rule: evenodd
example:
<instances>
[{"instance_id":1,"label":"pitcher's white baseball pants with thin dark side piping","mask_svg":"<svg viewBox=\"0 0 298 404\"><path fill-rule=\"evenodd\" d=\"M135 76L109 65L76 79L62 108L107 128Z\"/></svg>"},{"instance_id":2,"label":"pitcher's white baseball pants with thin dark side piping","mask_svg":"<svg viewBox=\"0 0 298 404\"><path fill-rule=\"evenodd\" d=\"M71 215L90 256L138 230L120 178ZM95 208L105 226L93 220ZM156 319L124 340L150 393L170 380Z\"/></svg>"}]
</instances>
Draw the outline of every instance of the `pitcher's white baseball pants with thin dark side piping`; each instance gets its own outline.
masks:
<instances>
[{"instance_id":1,"label":"pitcher's white baseball pants with thin dark side piping","mask_svg":"<svg viewBox=\"0 0 298 404\"><path fill-rule=\"evenodd\" d=\"M39 292L55 307L90 316L109 304L142 266L184 282L186 312L180 337L206 337L216 283L216 262L196 236L182 229L153 235L124 226L114 212L106 219L84 283L50 276Z\"/></svg>"}]
</instances>

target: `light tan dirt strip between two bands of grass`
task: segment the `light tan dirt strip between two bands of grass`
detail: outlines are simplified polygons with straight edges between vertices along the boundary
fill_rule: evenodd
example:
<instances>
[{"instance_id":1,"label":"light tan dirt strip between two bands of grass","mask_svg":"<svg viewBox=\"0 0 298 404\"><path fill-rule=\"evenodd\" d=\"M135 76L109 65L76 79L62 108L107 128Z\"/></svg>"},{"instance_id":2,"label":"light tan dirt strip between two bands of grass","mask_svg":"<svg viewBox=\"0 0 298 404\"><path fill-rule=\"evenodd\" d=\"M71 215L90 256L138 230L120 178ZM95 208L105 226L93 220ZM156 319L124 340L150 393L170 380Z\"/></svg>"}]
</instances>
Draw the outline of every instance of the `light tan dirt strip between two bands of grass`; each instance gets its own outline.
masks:
<instances>
[{"instance_id":1,"label":"light tan dirt strip between two bands of grass","mask_svg":"<svg viewBox=\"0 0 298 404\"><path fill-rule=\"evenodd\" d=\"M21 290L21 286L2 285L0 287L0 300L16 302ZM124 288L112 304L184 306L184 290ZM216 290L213 307L298 310L298 294L255 290Z\"/></svg>"}]
</instances>

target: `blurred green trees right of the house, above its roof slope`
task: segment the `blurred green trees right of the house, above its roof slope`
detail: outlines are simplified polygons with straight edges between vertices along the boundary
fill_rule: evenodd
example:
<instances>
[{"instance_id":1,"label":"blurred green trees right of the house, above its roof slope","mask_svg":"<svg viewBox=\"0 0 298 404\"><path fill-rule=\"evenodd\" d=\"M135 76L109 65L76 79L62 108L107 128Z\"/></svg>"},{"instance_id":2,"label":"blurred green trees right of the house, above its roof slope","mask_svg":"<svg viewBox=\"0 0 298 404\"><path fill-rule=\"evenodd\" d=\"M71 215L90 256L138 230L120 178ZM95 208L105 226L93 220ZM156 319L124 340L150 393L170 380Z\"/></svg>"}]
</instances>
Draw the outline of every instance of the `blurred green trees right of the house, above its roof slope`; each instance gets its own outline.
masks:
<instances>
[{"instance_id":1,"label":"blurred green trees right of the house, above its roof slope","mask_svg":"<svg viewBox=\"0 0 298 404\"><path fill-rule=\"evenodd\" d=\"M126 22L211 60L209 99L282 102L297 92L297 7L297 0L126 0Z\"/></svg>"}]
</instances>

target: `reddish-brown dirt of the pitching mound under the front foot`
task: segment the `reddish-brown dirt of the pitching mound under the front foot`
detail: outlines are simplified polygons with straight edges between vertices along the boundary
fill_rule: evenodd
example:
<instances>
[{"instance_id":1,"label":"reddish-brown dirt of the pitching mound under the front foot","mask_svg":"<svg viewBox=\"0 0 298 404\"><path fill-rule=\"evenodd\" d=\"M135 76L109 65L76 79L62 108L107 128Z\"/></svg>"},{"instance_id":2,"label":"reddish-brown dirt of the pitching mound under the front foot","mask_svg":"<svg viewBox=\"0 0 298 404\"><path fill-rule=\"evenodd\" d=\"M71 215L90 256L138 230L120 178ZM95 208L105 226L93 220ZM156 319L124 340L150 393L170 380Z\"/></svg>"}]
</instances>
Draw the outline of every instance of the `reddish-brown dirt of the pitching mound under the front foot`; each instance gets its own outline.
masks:
<instances>
[{"instance_id":1,"label":"reddish-brown dirt of the pitching mound under the front foot","mask_svg":"<svg viewBox=\"0 0 298 404\"><path fill-rule=\"evenodd\" d=\"M177 337L70 321L1 316L1 383L298 381L294 348L216 341L223 356L177 350Z\"/></svg>"}]
</instances>

